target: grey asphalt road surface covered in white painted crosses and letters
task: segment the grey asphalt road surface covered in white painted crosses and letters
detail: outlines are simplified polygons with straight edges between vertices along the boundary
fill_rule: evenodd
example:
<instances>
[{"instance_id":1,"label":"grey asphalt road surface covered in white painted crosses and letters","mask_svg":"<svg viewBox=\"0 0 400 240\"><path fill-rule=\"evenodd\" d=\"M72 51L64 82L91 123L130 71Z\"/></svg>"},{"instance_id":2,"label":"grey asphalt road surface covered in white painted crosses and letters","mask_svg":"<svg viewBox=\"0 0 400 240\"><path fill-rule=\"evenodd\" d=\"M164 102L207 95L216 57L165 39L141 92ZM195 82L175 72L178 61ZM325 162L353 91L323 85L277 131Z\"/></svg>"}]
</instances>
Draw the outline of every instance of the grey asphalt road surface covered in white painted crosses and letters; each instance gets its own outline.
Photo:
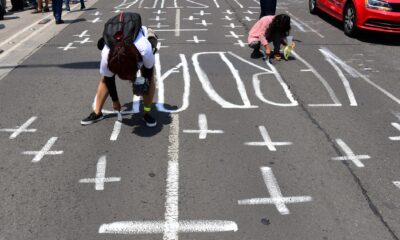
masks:
<instances>
[{"instance_id":1,"label":"grey asphalt road surface covered in white painted crosses and letters","mask_svg":"<svg viewBox=\"0 0 400 240\"><path fill-rule=\"evenodd\" d=\"M160 38L158 126L118 81L89 126L105 21ZM400 38L279 0L297 46L250 59L253 0L98 1L0 80L0 239L400 238Z\"/></svg>"}]
</instances>

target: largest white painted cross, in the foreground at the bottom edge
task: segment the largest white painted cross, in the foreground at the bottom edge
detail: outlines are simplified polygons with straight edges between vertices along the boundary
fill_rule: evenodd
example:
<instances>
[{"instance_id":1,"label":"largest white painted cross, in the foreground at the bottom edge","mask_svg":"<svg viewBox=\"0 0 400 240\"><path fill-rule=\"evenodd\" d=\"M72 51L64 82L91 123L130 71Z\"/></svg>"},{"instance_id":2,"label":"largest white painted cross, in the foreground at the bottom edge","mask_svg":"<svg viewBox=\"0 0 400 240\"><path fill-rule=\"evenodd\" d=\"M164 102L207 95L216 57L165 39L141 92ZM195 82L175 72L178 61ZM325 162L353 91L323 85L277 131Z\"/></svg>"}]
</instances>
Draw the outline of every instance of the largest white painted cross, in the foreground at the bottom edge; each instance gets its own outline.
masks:
<instances>
[{"instance_id":1,"label":"largest white painted cross, in the foreground at the bottom edge","mask_svg":"<svg viewBox=\"0 0 400 240\"><path fill-rule=\"evenodd\" d=\"M223 220L179 220L179 115L171 115L168 137L168 170L165 214L160 221L121 221L102 224L99 233L163 234L164 240L178 240L178 233L237 231L237 224Z\"/></svg>"}]
</instances>

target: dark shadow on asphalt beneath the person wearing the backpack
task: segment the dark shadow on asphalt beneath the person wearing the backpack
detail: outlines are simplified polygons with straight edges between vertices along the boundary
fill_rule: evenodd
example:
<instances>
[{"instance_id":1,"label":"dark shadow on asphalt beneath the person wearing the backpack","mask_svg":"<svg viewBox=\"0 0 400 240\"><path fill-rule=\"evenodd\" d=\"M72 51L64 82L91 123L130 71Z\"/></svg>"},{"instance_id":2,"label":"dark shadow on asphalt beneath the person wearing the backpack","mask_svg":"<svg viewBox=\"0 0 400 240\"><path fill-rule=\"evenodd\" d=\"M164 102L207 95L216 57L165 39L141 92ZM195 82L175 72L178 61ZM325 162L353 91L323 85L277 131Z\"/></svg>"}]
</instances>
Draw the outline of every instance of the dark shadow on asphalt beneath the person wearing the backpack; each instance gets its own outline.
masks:
<instances>
[{"instance_id":1,"label":"dark shadow on asphalt beneath the person wearing the backpack","mask_svg":"<svg viewBox=\"0 0 400 240\"><path fill-rule=\"evenodd\" d=\"M122 107L124 111L131 111L132 110L132 102L124 104ZM178 109L177 106L171 106L169 104L164 104L164 107L169 110ZM155 127L147 127L144 123L143 117L143 106L141 104L140 112L136 114L130 115L130 118L123 118L122 124L133 127L132 133L136 134L140 137L151 137L156 135L157 133L161 132L165 125L169 125L171 123L171 114L169 112L159 112L155 104L152 106L152 113L151 115L156 119L157 126Z\"/></svg>"}]
</instances>

